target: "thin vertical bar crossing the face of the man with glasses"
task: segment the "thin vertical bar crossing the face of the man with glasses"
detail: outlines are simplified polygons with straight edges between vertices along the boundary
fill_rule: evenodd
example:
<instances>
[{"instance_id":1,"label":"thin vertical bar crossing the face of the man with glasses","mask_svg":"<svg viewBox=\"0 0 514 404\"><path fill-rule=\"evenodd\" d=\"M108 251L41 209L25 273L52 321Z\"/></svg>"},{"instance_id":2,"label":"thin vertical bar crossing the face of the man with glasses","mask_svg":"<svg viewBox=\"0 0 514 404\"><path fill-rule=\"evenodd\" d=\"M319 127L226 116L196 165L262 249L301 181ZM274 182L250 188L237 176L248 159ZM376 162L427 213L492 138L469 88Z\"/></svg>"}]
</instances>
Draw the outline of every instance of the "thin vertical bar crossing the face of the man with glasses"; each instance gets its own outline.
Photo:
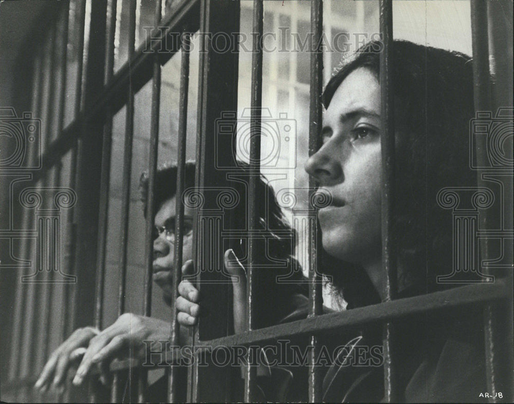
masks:
<instances>
[{"instance_id":1,"label":"thin vertical bar crossing the face of the man with glasses","mask_svg":"<svg viewBox=\"0 0 514 404\"><path fill-rule=\"evenodd\" d=\"M172 347L179 344L179 324L177 321L176 301L178 297L178 284L182 278L182 246L183 246L183 227L184 227L184 205L182 195L184 193L186 178L186 139L187 139L187 118L188 118L188 90L189 90L189 44L191 34L182 33L181 39L181 61L180 61L180 95L178 112L178 150L177 150L177 191L175 194L175 251L173 273L173 297L171 312L171 336ZM171 366L168 379L168 401L178 402L178 368Z\"/></svg>"}]
</instances>

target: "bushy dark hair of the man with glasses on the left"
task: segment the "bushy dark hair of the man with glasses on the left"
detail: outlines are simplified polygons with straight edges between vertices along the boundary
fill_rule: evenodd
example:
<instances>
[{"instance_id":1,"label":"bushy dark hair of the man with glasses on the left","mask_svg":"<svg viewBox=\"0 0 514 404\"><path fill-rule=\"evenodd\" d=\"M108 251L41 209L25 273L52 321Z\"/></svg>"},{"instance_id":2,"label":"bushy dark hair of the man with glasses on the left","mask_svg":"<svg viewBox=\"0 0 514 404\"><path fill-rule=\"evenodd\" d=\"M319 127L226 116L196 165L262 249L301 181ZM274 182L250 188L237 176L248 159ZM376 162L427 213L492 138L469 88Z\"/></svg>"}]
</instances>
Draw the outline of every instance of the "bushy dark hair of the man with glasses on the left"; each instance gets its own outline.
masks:
<instances>
[{"instance_id":1,"label":"bushy dark hair of the man with glasses on the left","mask_svg":"<svg viewBox=\"0 0 514 404\"><path fill-rule=\"evenodd\" d=\"M185 192L195 185L195 163L188 161L185 167ZM237 169L230 171L231 187L240 196L240 202L232 209L227 209L226 214L231 215L233 220L230 228L233 230L246 230L247 228L247 206L248 206L248 179L250 166L244 162L237 162ZM155 210L176 194L177 165L168 163L157 170L155 183ZM139 183L143 211L146 213L146 196L148 195L148 174L143 173ZM257 278L256 289L259 290L259 318L256 324L264 327L277 324L282 318L293 310L293 295L306 295L307 288L300 263L293 258L294 248L297 240L296 230L291 228L277 199L273 188L269 185L264 176L261 175L258 181L256 198L261 201L258 206L259 230L263 233L263 239L267 243L267 254L258 257L256 264L273 264L273 261L280 260L284 265L277 267L276 262L273 268L262 268ZM242 239L241 244L234 247L236 256L247 264L246 240ZM280 277L280 279L279 279ZM287 282L284 282L286 280Z\"/></svg>"}]
</instances>

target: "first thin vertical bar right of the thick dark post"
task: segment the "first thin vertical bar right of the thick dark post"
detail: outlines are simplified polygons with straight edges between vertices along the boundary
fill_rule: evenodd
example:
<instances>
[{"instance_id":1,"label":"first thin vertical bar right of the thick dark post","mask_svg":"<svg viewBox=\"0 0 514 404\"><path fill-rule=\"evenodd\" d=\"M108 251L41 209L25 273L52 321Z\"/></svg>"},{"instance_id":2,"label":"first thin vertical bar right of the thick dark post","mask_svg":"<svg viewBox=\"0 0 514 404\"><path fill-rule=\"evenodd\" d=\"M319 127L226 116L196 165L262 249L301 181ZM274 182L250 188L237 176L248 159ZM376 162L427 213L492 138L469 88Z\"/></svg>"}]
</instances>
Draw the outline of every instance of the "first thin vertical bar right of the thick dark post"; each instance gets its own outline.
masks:
<instances>
[{"instance_id":1,"label":"first thin vertical bar right of the thick dark post","mask_svg":"<svg viewBox=\"0 0 514 404\"><path fill-rule=\"evenodd\" d=\"M256 318L259 317L258 285L259 273L255 269L255 261L263 252L253 237L258 230L259 215L257 187L261 175L261 117L262 117L262 60L263 60L263 14L262 0L253 1L253 47L252 47L252 77L251 77L251 116L250 116L250 176L248 178L248 205L249 205L249 232L248 239L248 272L246 283L246 331L251 331L256 326ZM245 366L245 401L256 401L256 368L250 366L250 351L248 351Z\"/></svg>"}]
</instances>

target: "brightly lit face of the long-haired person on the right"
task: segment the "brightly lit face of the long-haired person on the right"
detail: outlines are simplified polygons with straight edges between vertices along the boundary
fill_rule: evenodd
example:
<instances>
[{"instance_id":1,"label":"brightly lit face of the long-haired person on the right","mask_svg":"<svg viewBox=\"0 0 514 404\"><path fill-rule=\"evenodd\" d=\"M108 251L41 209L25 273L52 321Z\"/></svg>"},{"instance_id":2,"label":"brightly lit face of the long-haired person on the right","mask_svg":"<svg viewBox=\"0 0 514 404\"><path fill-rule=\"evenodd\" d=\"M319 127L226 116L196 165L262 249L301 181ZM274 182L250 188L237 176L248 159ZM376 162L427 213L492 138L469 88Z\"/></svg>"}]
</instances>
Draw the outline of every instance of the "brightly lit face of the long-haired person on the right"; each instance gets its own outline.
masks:
<instances>
[{"instance_id":1,"label":"brightly lit face of the long-haired person on the right","mask_svg":"<svg viewBox=\"0 0 514 404\"><path fill-rule=\"evenodd\" d=\"M360 264L380 257L380 85L358 68L334 94L323 118L323 146L305 164L332 195L319 210L323 248Z\"/></svg>"}]
</instances>

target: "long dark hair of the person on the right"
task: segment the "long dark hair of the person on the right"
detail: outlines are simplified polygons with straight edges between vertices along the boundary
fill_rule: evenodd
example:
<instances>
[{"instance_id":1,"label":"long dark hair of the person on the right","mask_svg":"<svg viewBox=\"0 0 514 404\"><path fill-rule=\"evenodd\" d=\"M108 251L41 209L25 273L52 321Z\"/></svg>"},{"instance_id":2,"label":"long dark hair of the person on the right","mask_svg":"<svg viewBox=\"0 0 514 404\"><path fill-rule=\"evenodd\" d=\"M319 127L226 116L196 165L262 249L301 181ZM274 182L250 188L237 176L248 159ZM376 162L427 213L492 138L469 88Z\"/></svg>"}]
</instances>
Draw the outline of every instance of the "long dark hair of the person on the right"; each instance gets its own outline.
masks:
<instances>
[{"instance_id":1,"label":"long dark hair of the person on the right","mask_svg":"<svg viewBox=\"0 0 514 404\"><path fill-rule=\"evenodd\" d=\"M369 69L379 81L377 41L360 47L326 85L323 104L348 74ZM452 265L452 223L436 203L445 186L473 186L468 167L469 121L474 116L471 58L408 41L392 45L395 95L396 208L393 236L398 246L400 284L415 285L416 293L434 290L436 276ZM326 272L351 306L360 305L369 279L354 265L325 257ZM344 268L344 269L343 269ZM359 275L361 274L361 275ZM367 277L365 277L367 278ZM372 292L367 303L378 300Z\"/></svg>"}]
</instances>

